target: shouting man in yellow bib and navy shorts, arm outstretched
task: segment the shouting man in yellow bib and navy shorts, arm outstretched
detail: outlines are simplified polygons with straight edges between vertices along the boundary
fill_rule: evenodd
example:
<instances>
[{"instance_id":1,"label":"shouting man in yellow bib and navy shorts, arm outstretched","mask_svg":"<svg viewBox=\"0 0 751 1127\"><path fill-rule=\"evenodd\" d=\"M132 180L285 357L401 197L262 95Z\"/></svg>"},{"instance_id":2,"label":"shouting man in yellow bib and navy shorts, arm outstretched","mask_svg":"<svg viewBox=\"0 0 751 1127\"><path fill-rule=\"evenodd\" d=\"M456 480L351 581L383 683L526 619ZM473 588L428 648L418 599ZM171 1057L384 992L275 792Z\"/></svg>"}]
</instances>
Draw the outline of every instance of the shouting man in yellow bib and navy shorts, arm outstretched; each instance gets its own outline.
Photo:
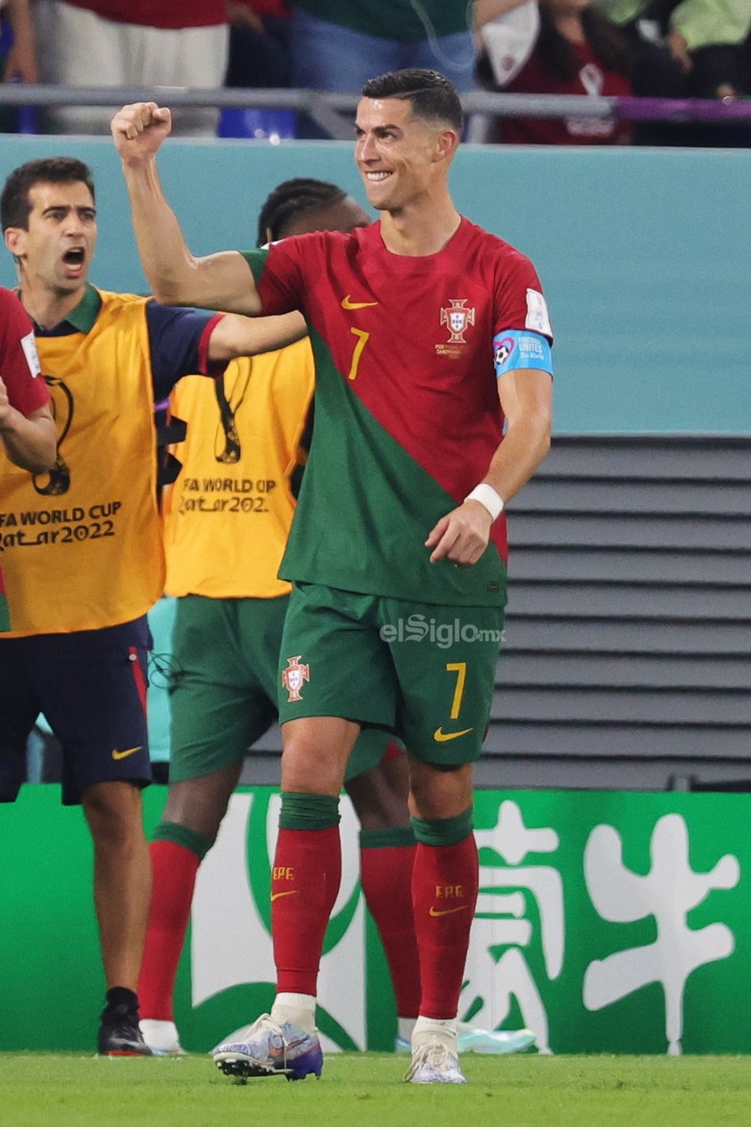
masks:
<instances>
[{"instance_id":1,"label":"shouting man in yellow bib and navy shorts, arm outstretched","mask_svg":"<svg viewBox=\"0 0 751 1127\"><path fill-rule=\"evenodd\" d=\"M48 472L15 471L0 452L10 607L0 638L0 801L17 797L42 711L63 747L62 800L81 804L93 840L107 984L99 1051L147 1054L136 997L151 890L141 817L151 778L145 613L164 578L154 390L162 398L186 373L220 372L265 347L263 322L90 285L95 188L78 160L15 169L0 216L57 427ZM298 314L285 323L289 340L304 332Z\"/></svg>"}]
</instances>

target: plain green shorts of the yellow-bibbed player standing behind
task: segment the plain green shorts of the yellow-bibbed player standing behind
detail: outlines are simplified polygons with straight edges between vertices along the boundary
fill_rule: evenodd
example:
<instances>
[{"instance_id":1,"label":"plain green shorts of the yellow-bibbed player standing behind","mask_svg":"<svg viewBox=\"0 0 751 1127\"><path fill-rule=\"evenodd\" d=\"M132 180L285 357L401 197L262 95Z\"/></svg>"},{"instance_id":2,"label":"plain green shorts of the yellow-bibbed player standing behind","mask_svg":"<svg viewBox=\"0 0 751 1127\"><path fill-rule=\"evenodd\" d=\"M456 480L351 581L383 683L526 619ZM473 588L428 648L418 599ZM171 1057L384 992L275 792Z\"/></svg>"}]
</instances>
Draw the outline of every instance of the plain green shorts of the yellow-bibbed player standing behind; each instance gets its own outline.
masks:
<instances>
[{"instance_id":1,"label":"plain green shorts of the yellow-bibbed player standing behind","mask_svg":"<svg viewBox=\"0 0 751 1127\"><path fill-rule=\"evenodd\" d=\"M288 604L285 595L176 600L169 663L170 782L238 763L276 721ZM385 731L364 731L349 757L346 780L374 770L388 739Z\"/></svg>"}]
</instances>

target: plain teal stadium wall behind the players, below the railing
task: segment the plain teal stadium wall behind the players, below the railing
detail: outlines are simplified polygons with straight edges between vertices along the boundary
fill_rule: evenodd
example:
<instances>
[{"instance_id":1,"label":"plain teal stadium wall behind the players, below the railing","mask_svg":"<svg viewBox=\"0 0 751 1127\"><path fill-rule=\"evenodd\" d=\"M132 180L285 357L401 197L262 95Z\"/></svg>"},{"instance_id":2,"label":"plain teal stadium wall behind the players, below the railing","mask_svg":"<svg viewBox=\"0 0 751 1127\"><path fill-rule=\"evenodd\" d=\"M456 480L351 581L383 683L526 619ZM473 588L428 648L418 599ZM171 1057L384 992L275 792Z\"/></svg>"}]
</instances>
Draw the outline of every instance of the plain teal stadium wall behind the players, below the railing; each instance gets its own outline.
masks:
<instances>
[{"instance_id":1,"label":"plain teal stadium wall behind the players, below the railing","mask_svg":"<svg viewBox=\"0 0 751 1127\"><path fill-rule=\"evenodd\" d=\"M97 178L92 281L143 292L107 139L0 136L0 174L59 153L86 160ZM173 140L161 169L197 254L252 246L260 204L287 177L331 179L363 198L345 142ZM557 432L751 432L749 184L748 150L459 152L459 210L527 252L543 278ZM0 283L14 284L9 256Z\"/></svg>"}]
</instances>

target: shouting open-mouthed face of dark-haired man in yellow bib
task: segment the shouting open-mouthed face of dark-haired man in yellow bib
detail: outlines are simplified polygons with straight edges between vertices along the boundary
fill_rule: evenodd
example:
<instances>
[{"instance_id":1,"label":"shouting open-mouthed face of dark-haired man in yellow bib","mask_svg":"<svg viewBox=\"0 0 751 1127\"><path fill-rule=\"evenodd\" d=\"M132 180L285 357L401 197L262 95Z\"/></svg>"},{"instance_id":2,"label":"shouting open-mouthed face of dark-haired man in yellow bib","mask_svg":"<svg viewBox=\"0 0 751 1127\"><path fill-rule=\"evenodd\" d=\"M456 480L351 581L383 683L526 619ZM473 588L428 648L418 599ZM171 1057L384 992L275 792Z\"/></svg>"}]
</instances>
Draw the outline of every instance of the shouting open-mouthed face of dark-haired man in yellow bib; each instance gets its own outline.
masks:
<instances>
[{"instance_id":1,"label":"shouting open-mouthed face of dark-haired man in yellow bib","mask_svg":"<svg viewBox=\"0 0 751 1127\"><path fill-rule=\"evenodd\" d=\"M97 245L97 212L86 184L39 181L28 194L26 229L6 230L8 249L19 261L21 281L56 298L83 290Z\"/></svg>"}]
</instances>

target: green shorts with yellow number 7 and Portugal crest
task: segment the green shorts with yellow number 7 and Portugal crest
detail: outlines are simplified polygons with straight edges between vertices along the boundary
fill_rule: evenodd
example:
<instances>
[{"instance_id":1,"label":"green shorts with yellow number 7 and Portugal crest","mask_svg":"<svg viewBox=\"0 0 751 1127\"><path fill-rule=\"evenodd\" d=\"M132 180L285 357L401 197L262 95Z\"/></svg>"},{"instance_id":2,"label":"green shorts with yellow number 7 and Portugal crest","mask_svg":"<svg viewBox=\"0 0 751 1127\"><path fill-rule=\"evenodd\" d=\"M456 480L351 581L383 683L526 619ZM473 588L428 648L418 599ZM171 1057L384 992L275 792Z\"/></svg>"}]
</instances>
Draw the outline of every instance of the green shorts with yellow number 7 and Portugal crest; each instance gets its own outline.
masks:
<instances>
[{"instance_id":1,"label":"green shorts with yellow number 7 and Portugal crest","mask_svg":"<svg viewBox=\"0 0 751 1127\"><path fill-rule=\"evenodd\" d=\"M502 629L502 607L301 583L284 627L279 721L357 720L396 733L427 763L470 763L488 726Z\"/></svg>"}]
</instances>

